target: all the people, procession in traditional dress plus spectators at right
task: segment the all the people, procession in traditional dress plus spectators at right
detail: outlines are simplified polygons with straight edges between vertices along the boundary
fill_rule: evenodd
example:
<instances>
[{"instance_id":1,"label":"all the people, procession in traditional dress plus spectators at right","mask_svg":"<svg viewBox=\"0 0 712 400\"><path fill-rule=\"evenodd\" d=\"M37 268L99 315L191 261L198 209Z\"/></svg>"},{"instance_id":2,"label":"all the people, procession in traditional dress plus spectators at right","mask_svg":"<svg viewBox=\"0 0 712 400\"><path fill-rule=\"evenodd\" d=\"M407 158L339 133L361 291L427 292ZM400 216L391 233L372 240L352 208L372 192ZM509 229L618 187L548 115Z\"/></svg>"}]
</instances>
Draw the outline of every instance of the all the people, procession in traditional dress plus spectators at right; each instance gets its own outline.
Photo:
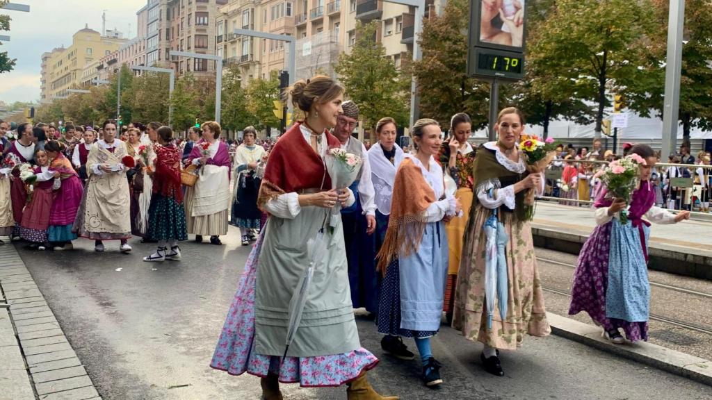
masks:
<instances>
[{"instance_id":1,"label":"all the people, procession in traditional dress plus spectators at right","mask_svg":"<svg viewBox=\"0 0 712 400\"><path fill-rule=\"evenodd\" d=\"M550 169L560 179L528 172L518 146L525 117L514 107L498 114L496 141L473 147L470 117L457 113L445 135L436 120L418 120L413 149L404 151L390 117L377 122L374 144L353 137L360 110L344 94L323 75L299 80L288 95L303 118L263 143L253 127L240 143L221 140L217 122L192 128L182 144L156 122L132 124L117 138L112 121L66 125L58 139L48 125L23 124L8 141L0 122L0 235L57 251L78 236L93 239L96 251L116 240L123 252L140 236L157 242L143 260L159 262L179 260L188 234L219 246L236 226L241 244L253 246L211 367L261 377L268 400L283 399L280 383L345 384L350 400L397 399L368 382L378 359L360 343L355 308L375 321L384 353L414 359L405 342L412 338L426 386L444 383L431 348L443 315L483 344L483 369L503 376L500 351L550 334L525 194L572 191L562 197L594 199L598 226L580 254L570 313L587 312L613 343L646 340L643 218L689 218L659 207L655 174L670 170L658 172L650 147L632 145L622 156L645 160L627 202L596 181L602 164L582 162L617 158L600 141L590 152L557 149ZM343 187L328 167L334 149L360 160ZM700 158L709 163L708 154ZM621 223L626 207L630 223Z\"/></svg>"}]
</instances>

